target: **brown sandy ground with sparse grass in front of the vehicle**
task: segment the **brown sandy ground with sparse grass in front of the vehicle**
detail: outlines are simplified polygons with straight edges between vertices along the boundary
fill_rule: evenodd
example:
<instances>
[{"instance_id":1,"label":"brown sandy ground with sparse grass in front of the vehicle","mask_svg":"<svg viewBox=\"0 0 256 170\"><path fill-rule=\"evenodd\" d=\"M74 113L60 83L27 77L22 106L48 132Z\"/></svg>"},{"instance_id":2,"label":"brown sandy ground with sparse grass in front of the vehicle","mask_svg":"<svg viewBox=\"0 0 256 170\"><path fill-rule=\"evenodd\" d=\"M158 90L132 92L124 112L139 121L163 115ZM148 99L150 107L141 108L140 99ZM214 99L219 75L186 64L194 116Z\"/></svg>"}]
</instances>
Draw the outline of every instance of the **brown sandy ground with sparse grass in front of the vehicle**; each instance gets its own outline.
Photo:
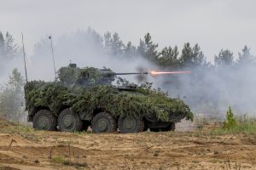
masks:
<instances>
[{"instance_id":1,"label":"brown sandy ground with sparse grass in front of the vehicle","mask_svg":"<svg viewBox=\"0 0 256 170\"><path fill-rule=\"evenodd\" d=\"M192 127L179 124L177 131ZM247 134L61 133L3 121L0 129L1 170L256 169L256 136Z\"/></svg>"}]
</instances>

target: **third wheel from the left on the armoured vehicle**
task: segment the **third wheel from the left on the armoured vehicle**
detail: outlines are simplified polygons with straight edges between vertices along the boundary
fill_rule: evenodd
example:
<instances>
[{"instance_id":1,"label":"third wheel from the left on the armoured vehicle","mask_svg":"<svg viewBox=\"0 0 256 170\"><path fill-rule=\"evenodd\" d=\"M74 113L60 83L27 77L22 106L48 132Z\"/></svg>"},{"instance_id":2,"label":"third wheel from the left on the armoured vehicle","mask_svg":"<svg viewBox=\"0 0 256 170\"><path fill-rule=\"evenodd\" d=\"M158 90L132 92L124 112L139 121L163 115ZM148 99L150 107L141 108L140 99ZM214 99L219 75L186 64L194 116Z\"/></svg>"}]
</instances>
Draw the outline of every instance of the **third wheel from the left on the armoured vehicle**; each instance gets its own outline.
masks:
<instances>
[{"instance_id":1,"label":"third wheel from the left on the armoured vehicle","mask_svg":"<svg viewBox=\"0 0 256 170\"><path fill-rule=\"evenodd\" d=\"M117 129L117 123L109 113L100 112L93 117L91 128L93 133L113 133Z\"/></svg>"}]
</instances>

